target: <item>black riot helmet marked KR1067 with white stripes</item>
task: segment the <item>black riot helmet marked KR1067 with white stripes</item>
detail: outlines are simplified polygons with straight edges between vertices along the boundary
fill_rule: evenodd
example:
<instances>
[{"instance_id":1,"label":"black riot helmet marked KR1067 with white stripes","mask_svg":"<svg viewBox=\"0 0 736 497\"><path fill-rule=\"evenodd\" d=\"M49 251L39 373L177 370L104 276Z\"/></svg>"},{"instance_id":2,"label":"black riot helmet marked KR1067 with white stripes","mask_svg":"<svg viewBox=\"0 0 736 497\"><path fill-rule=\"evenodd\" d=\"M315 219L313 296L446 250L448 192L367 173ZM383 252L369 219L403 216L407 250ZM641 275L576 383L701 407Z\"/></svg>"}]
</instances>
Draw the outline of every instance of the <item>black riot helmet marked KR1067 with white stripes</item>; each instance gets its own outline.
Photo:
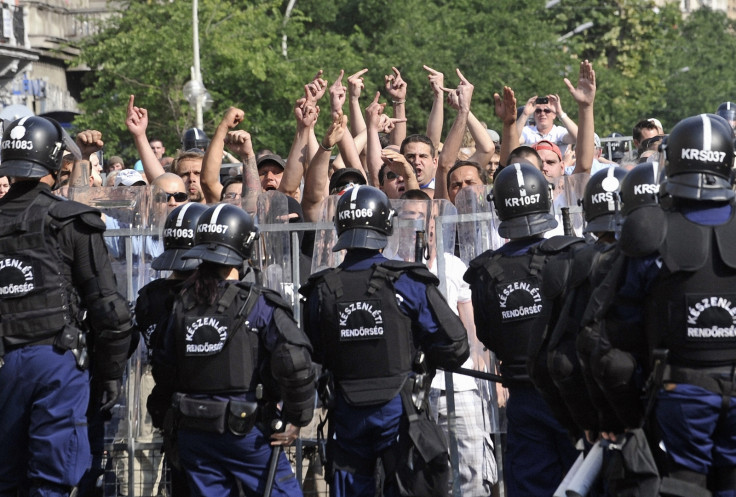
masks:
<instances>
[{"instance_id":1,"label":"black riot helmet marked KR1067 with white stripes","mask_svg":"<svg viewBox=\"0 0 736 497\"><path fill-rule=\"evenodd\" d=\"M194 247L184 258L240 266L250 257L257 238L258 228L250 214L232 204L217 204L200 216Z\"/></svg>"}]
</instances>

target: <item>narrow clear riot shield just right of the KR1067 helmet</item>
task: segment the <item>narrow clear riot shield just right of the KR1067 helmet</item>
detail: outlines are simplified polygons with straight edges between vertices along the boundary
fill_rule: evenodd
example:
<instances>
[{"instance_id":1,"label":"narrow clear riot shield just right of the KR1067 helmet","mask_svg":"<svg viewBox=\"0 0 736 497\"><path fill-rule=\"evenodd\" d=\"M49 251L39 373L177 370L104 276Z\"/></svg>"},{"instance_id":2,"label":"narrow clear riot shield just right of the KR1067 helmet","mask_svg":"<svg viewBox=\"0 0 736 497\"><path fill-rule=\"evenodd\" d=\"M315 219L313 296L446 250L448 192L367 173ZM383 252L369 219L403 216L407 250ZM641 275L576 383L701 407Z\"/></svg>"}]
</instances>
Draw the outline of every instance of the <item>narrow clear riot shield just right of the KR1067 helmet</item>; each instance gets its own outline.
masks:
<instances>
[{"instance_id":1,"label":"narrow clear riot shield just right of the KR1067 helmet","mask_svg":"<svg viewBox=\"0 0 736 497\"><path fill-rule=\"evenodd\" d=\"M263 286L276 290L294 306L289 204L286 195L275 190L258 195L255 221L260 237L253 244L253 266L260 272Z\"/></svg>"}]
</instances>

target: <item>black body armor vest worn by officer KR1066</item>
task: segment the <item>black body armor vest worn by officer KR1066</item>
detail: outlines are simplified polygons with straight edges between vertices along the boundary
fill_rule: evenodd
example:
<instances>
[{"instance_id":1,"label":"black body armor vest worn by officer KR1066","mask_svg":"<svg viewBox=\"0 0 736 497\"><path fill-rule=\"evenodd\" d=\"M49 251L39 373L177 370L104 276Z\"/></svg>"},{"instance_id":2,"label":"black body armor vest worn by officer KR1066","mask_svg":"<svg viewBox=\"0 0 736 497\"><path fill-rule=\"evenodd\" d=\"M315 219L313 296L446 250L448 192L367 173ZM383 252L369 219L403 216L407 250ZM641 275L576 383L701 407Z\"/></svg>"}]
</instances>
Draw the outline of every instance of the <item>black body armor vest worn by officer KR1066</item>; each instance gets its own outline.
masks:
<instances>
[{"instance_id":1,"label":"black body armor vest worn by officer KR1066","mask_svg":"<svg viewBox=\"0 0 736 497\"><path fill-rule=\"evenodd\" d=\"M353 405L388 402L412 371L412 323L393 286L401 274L377 264L316 275L324 366Z\"/></svg>"}]
</instances>

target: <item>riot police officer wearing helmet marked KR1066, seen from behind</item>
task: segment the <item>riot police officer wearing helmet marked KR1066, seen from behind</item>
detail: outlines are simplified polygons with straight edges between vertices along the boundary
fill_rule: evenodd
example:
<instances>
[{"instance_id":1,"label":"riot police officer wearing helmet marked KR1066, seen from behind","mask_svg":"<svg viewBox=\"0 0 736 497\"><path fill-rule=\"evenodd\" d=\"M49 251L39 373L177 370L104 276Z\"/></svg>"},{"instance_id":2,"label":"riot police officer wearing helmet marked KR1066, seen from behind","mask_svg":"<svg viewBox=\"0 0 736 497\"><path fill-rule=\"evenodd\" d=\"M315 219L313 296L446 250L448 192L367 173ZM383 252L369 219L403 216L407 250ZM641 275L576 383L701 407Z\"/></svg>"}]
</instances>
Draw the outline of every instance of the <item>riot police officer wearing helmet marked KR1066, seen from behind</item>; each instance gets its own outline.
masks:
<instances>
[{"instance_id":1,"label":"riot police officer wearing helmet marked KR1066, seen from behind","mask_svg":"<svg viewBox=\"0 0 736 497\"><path fill-rule=\"evenodd\" d=\"M331 494L340 497L373 496L381 471L386 496L399 495L399 488L402 495L447 492L447 442L439 427L426 424L427 374L435 367L453 370L467 359L467 333L423 264L381 254L393 218L388 197L377 188L345 191L337 202L332 248L347 250L345 260L300 289L315 362L331 379L321 395L330 410ZM419 418L424 421L416 424ZM420 435L412 426L425 431ZM431 446L432 460L418 462L409 475L403 450L419 436Z\"/></svg>"}]
</instances>

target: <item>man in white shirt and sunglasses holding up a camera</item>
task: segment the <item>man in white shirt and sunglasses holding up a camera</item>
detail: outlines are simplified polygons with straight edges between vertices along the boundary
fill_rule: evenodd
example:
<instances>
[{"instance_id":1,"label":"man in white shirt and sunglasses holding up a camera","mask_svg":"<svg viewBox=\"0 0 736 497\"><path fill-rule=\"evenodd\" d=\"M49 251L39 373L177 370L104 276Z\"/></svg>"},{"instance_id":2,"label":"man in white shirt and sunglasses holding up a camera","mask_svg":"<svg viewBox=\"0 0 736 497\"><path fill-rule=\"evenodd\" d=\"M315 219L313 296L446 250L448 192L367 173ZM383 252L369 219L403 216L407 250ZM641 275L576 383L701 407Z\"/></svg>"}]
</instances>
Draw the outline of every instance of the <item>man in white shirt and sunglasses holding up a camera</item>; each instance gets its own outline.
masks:
<instances>
[{"instance_id":1,"label":"man in white shirt and sunglasses holding up a camera","mask_svg":"<svg viewBox=\"0 0 736 497\"><path fill-rule=\"evenodd\" d=\"M530 116L534 116L534 125L526 125ZM555 125L555 118L560 120L562 126ZM562 110L559 95L547 95L537 97L534 95L527 100L524 110L516 120L519 130L519 144L532 145L541 140L547 140L561 148L575 143L578 136L578 126ZM562 150L564 153L564 150Z\"/></svg>"}]
</instances>

